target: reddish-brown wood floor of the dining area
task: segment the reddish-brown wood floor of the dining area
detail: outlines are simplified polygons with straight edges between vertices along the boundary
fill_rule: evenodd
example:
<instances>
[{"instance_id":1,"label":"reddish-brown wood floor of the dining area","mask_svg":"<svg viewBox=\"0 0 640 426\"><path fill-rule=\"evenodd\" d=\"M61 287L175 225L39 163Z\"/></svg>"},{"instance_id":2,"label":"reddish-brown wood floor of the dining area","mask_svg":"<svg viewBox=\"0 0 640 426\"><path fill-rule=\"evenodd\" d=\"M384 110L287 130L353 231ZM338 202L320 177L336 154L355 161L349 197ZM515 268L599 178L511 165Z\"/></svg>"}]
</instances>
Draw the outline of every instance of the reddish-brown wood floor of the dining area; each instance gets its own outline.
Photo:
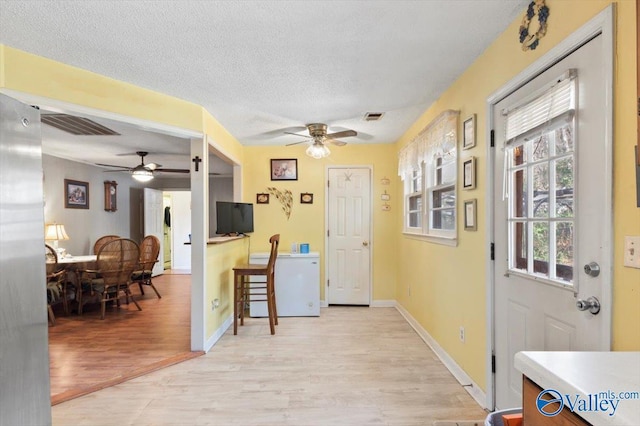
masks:
<instances>
[{"instance_id":1,"label":"reddish-brown wood floor of the dining area","mask_svg":"<svg viewBox=\"0 0 640 426\"><path fill-rule=\"evenodd\" d=\"M162 299L151 288L144 296L131 288L142 311L133 303L107 307L101 320L92 304L82 316L56 315L49 327L53 405L201 355L190 352L191 276L165 274L153 283Z\"/></svg>"}]
</instances>

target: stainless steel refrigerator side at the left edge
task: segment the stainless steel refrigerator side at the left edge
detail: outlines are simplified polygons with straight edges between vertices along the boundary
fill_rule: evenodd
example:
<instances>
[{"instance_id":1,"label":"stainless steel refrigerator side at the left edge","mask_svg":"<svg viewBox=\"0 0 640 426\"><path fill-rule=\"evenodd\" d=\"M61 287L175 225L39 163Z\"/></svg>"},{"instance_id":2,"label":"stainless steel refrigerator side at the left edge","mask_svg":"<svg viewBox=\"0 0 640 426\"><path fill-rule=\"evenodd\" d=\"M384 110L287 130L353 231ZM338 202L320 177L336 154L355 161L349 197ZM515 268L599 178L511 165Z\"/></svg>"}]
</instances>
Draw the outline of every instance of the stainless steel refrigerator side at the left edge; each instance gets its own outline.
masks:
<instances>
[{"instance_id":1,"label":"stainless steel refrigerator side at the left edge","mask_svg":"<svg viewBox=\"0 0 640 426\"><path fill-rule=\"evenodd\" d=\"M40 112L0 94L0 426L50 425Z\"/></svg>"}]
</instances>

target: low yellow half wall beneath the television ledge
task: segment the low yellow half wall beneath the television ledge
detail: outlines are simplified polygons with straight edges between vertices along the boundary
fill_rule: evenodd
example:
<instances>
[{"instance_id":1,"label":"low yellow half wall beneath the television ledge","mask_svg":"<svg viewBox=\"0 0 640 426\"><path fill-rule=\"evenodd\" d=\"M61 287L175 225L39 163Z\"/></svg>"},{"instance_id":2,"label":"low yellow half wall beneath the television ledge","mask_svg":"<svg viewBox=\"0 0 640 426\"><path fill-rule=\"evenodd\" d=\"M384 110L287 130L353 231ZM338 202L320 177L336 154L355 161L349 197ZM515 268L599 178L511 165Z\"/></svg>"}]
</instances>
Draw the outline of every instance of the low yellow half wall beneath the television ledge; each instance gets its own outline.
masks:
<instances>
[{"instance_id":1,"label":"low yellow half wall beneath the television ledge","mask_svg":"<svg viewBox=\"0 0 640 426\"><path fill-rule=\"evenodd\" d=\"M207 245L207 277L205 278L205 336L212 336L233 316L233 267L247 262L249 239ZM220 306L211 311L211 300Z\"/></svg>"}]
</instances>

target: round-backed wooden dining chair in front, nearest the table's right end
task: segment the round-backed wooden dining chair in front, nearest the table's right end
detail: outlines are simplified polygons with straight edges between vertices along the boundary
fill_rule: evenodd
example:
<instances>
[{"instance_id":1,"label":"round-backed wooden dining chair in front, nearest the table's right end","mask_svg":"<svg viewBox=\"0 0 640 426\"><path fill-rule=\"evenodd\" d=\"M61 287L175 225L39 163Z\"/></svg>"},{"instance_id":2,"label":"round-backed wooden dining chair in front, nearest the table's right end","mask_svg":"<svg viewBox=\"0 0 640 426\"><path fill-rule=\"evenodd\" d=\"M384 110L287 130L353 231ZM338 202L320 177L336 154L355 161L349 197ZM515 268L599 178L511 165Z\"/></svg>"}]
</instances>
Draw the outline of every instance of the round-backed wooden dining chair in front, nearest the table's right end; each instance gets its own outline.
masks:
<instances>
[{"instance_id":1,"label":"round-backed wooden dining chair in front, nearest the table's right end","mask_svg":"<svg viewBox=\"0 0 640 426\"><path fill-rule=\"evenodd\" d=\"M91 277L83 279L83 286L88 286L91 294L98 293L100 295L102 305L100 319L104 319L107 302L115 301L116 305L120 307L120 293L124 293L127 302L129 301L131 274L138 267L139 260L138 244L128 238L119 238L105 243L100 248L95 270L82 271L83 274L89 274ZM131 300L141 311L142 308L135 299L131 297Z\"/></svg>"}]
</instances>

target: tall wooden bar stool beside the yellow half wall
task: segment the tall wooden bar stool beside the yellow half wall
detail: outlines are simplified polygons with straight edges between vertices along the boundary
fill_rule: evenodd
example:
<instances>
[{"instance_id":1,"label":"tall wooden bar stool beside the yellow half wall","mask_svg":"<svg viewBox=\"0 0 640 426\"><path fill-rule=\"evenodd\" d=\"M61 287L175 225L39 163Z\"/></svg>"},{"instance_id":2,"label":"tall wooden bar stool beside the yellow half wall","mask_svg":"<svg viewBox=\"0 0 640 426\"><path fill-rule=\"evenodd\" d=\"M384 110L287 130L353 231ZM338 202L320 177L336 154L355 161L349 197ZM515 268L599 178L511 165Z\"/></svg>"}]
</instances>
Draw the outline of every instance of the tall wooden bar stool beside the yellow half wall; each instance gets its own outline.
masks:
<instances>
[{"instance_id":1,"label":"tall wooden bar stool beside the yellow half wall","mask_svg":"<svg viewBox=\"0 0 640 426\"><path fill-rule=\"evenodd\" d=\"M269 238L271 252L266 265L246 264L233 268L233 334L238 334L238 317L240 325L244 325L244 311L250 302L267 302L269 327L271 334L276 334L278 325L278 309L276 308L275 266L278 256L280 234ZM264 281L253 281L251 277L264 276Z\"/></svg>"}]
</instances>

